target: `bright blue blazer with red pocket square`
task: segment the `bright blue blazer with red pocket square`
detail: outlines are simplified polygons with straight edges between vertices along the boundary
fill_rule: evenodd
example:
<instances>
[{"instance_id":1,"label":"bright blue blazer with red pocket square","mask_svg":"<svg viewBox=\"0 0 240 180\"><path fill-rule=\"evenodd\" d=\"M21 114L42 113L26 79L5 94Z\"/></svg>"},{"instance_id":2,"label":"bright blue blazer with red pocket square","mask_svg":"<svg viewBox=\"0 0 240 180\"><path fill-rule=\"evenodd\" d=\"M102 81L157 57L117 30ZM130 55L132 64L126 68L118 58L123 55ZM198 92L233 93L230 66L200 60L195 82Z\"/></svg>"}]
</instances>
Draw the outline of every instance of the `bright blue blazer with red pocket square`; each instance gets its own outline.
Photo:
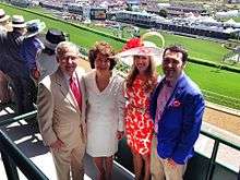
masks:
<instances>
[{"instance_id":1,"label":"bright blue blazer with red pocket square","mask_svg":"<svg viewBox=\"0 0 240 180\"><path fill-rule=\"evenodd\" d=\"M155 120L157 97L165 77L151 98L151 115ZM157 153L161 158L171 158L185 164L193 156L193 145L199 137L204 111L203 95L185 74L179 77L158 121Z\"/></svg>"}]
</instances>

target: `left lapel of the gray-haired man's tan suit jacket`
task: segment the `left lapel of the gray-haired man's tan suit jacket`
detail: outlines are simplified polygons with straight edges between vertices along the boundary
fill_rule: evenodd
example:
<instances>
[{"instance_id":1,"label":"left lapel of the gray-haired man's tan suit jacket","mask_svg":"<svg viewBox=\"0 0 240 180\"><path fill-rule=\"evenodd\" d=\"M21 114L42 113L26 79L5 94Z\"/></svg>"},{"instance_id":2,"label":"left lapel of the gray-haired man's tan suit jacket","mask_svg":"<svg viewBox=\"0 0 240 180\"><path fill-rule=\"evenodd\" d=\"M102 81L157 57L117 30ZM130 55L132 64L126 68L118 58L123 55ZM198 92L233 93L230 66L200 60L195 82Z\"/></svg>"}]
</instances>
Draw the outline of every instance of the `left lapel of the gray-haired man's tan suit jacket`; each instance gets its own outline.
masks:
<instances>
[{"instance_id":1,"label":"left lapel of the gray-haired man's tan suit jacket","mask_svg":"<svg viewBox=\"0 0 240 180\"><path fill-rule=\"evenodd\" d=\"M77 101L75 100L73 93L70 91L69 84L67 83L65 77L60 69L58 69L56 74L56 83L60 86L60 92L67 98L69 104L79 111L80 109Z\"/></svg>"}]
</instances>

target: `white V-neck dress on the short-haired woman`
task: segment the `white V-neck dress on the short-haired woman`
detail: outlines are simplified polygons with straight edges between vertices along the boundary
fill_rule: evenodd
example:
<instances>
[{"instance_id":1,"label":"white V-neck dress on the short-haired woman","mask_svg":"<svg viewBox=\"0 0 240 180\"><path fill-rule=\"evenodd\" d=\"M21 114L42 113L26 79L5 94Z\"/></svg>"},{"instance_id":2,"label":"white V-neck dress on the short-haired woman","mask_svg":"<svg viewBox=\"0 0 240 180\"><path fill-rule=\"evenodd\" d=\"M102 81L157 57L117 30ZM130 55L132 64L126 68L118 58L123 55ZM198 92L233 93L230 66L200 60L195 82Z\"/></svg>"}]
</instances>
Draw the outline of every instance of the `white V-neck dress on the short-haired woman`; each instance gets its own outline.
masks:
<instances>
[{"instance_id":1,"label":"white V-neck dress on the short-haired woman","mask_svg":"<svg viewBox=\"0 0 240 180\"><path fill-rule=\"evenodd\" d=\"M84 77L87 94L87 144L92 157L112 156L118 151L117 131L123 131L123 79L115 73L108 86L99 92L96 71Z\"/></svg>"}]
</instances>

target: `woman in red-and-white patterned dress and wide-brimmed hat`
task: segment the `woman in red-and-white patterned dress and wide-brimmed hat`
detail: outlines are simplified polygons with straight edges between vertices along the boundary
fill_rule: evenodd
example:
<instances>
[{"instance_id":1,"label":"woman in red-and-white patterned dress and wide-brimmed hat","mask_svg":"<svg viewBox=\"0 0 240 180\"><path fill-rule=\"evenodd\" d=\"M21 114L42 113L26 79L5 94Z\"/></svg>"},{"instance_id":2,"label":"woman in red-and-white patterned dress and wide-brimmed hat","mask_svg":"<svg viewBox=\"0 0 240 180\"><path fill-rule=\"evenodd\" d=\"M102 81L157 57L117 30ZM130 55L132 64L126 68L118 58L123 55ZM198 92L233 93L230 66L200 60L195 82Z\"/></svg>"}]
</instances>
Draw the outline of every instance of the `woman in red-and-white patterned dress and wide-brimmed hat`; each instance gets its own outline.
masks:
<instances>
[{"instance_id":1,"label":"woman in red-and-white patterned dress and wide-brimmed hat","mask_svg":"<svg viewBox=\"0 0 240 180\"><path fill-rule=\"evenodd\" d=\"M124 45L123 51L117 55L123 62L132 65L125 80L128 103L124 120L127 143L133 154L136 180L148 180L151 175L151 142L154 123L149 116L149 99L157 84L155 61L160 55L160 48L139 37L130 39Z\"/></svg>"}]
</instances>

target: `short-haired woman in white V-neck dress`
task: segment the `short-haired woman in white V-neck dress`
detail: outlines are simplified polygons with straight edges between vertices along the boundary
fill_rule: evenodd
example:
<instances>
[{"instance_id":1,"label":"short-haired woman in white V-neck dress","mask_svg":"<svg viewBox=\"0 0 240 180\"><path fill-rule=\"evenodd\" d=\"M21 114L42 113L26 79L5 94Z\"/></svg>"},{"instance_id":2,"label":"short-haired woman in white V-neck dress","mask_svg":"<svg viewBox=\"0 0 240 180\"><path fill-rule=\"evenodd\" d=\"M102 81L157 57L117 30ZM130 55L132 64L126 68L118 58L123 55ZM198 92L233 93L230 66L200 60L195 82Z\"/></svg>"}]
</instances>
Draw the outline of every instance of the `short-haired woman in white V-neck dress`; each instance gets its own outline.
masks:
<instances>
[{"instance_id":1,"label":"short-haired woman in white V-neck dress","mask_svg":"<svg viewBox=\"0 0 240 180\"><path fill-rule=\"evenodd\" d=\"M94 159L99 180L110 180L118 140L123 135L123 79L112 71L116 61L107 43L89 51L92 71L85 75L87 92L86 153Z\"/></svg>"}]
</instances>

